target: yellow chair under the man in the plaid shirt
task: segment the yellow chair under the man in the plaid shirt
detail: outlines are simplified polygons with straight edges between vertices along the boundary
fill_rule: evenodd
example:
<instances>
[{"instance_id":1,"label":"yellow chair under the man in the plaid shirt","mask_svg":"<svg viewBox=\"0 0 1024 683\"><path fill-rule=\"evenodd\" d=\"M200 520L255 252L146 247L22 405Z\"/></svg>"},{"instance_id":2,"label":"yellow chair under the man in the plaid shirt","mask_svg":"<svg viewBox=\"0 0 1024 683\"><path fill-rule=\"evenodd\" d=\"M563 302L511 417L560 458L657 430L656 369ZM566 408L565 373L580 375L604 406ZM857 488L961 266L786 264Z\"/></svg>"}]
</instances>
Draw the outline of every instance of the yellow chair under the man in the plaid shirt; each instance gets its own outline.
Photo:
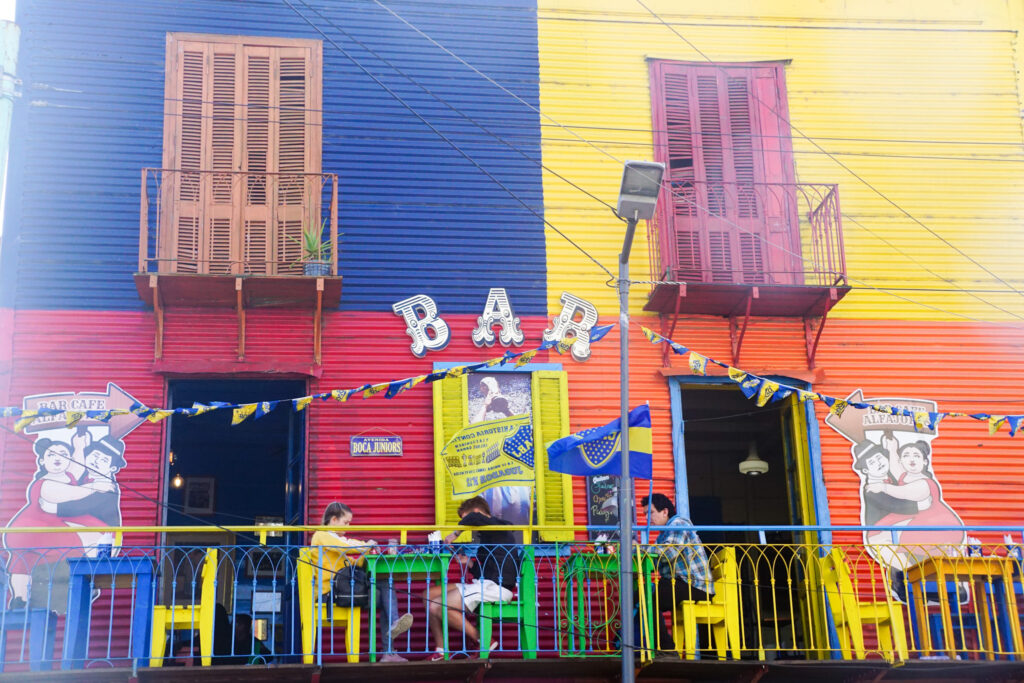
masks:
<instances>
[{"instance_id":1,"label":"yellow chair under the man in the plaid shirt","mask_svg":"<svg viewBox=\"0 0 1024 683\"><path fill-rule=\"evenodd\" d=\"M711 600L683 600L675 614L674 635L676 650L682 652L680 642L686 644L686 658L696 656L697 624L711 627L718 657L724 659L726 651L739 659L739 570L736 549L722 548L709 558L715 595ZM671 581L662 579L662 581ZM680 641L680 627L683 639Z\"/></svg>"}]
</instances>

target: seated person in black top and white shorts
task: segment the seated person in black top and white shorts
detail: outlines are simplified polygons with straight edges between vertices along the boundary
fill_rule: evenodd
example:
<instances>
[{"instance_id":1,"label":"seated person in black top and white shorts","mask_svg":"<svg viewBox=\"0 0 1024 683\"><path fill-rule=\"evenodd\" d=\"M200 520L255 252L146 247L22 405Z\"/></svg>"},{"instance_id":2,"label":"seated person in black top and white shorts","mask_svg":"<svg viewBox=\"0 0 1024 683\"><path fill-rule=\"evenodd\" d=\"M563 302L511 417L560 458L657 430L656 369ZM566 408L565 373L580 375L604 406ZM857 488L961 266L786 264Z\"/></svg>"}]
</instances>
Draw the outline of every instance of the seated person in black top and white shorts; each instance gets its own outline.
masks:
<instances>
[{"instance_id":1,"label":"seated person in black top and white shorts","mask_svg":"<svg viewBox=\"0 0 1024 683\"><path fill-rule=\"evenodd\" d=\"M490 515L487 502L477 496L463 501L459 506L459 524L462 526L511 525L511 522ZM453 543L459 531L453 531L445 543ZM512 531L483 529L473 532L473 540L480 544L475 557L462 553L456 555L460 563L473 577L471 583L449 584L447 622L452 628L461 629L466 636L479 644L480 632L466 620L466 612L474 611L481 602L509 602L515 597L514 591L519 581L518 550ZM465 575L465 570L463 575ZM444 658L444 629L442 592L444 587L431 586L424 594L430 615L430 633L434 639L435 651L431 661ZM492 647L494 649L494 647Z\"/></svg>"}]
</instances>

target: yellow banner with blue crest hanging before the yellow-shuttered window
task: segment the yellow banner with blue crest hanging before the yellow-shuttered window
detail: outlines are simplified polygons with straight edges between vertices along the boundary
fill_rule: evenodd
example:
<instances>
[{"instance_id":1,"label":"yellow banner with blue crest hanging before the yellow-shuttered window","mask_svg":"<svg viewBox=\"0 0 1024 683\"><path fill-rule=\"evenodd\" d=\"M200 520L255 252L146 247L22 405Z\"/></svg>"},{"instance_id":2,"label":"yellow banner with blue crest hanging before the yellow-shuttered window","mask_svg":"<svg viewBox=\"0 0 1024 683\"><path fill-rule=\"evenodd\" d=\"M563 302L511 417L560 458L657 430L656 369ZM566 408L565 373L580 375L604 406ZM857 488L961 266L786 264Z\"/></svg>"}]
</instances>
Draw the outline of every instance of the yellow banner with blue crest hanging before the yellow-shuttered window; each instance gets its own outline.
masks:
<instances>
[{"instance_id":1,"label":"yellow banner with blue crest hanging before the yellow-shuttered window","mask_svg":"<svg viewBox=\"0 0 1024 683\"><path fill-rule=\"evenodd\" d=\"M452 476L452 497L471 498L493 486L530 486L534 426L528 415L460 429L438 456Z\"/></svg>"}]
</instances>

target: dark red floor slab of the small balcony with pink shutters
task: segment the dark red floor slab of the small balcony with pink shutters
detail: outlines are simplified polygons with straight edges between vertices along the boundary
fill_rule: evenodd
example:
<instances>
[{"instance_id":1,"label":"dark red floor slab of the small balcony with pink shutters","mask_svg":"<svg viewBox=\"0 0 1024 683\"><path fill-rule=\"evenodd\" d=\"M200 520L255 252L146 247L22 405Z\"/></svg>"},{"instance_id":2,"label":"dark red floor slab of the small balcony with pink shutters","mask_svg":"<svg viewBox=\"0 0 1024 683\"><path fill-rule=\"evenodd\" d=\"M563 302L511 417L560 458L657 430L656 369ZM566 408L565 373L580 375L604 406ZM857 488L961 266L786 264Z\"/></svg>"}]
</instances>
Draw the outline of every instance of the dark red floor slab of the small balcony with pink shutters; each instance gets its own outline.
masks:
<instances>
[{"instance_id":1,"label":"dark red floor slab of the small balcony with pink shutters","mask_svg":"<svg viewBox=\"0 0 1024 683\"><path fill-rule=\"evenodd\" d=\"M850 291L846 285L732 285L687 283L657 285L651 291L644 310L680 315L743 315L751 301L751 315L803 317L820 315L831 290L833 305Z\"/></svg>"}]
</instances>

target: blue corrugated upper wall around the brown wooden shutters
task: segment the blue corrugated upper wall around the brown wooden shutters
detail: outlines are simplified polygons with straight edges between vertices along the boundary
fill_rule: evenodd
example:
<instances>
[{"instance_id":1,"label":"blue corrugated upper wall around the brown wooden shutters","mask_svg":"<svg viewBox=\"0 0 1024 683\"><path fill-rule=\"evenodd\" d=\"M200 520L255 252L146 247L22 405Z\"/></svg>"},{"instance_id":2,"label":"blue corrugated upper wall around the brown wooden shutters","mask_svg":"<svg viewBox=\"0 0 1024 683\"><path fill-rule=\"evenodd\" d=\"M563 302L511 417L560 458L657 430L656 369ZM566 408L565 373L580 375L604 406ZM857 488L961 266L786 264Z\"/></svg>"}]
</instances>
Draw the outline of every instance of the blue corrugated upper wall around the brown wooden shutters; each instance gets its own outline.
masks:
<instances>
[{"instance_id":1,"label":"blue corrugated upper wall around the brown wooden shutters","mask_svg":"<svg viewBox=\"0 0 1024 683\"><path fill-rule=\"evenodd\" d=\"M538 106L534 2L386 4ZM504 286L517 311L546 312L542 221L331 41L543 214L540 168L420 86L539 160L537 114L376 4L19 0L17 23L25 85L12 133L0 306L141 307L131 279L139 169L161 165L165 34L178 31L324 41L323 168L339 175L342 308L390 310L425 293L442 312L478 314L487 289Z\"/></svg>"}]
</instances>

